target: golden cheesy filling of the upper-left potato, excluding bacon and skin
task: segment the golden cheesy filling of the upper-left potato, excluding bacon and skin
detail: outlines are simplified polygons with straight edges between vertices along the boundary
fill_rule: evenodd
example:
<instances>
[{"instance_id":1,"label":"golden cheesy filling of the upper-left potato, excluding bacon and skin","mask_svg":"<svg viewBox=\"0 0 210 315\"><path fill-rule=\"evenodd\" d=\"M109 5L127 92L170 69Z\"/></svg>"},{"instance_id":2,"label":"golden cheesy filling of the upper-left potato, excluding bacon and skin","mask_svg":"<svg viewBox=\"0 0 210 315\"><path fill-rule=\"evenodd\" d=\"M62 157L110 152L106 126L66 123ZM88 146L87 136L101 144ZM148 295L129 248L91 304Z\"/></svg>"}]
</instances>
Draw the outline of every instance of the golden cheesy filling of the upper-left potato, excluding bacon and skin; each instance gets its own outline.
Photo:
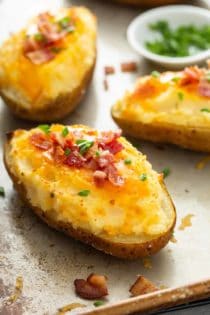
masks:
<instances>
[{"instance_id":1,"label":"golden cheesy filling of the upper-left potato, excluding bacon and skin","mask_svg":"<svg viewBox=\"0 0 210 315\"><path fill-rule=\"evenodd\" d=\"M22 52L23 40L34 25L8 39L0 51L0 88L12 99L20 99L25 108L40 108L46 101L77 88L95 61L96 19L83 7L61 9L57 16L75 20L75 30L64 39L64 47L56 57L35 65Z\"/></svg>"}]
</instances>

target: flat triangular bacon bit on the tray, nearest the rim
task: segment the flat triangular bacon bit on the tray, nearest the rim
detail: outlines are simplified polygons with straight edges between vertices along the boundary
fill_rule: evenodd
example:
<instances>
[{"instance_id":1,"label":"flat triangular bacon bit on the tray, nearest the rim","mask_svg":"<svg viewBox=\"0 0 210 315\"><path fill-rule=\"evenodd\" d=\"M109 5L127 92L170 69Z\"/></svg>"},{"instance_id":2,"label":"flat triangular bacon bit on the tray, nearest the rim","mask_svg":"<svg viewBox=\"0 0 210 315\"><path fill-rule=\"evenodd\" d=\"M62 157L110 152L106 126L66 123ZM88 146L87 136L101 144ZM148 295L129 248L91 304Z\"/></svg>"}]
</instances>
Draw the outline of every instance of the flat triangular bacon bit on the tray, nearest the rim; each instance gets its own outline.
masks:
<instances>
[{"instance_id":1,"label":"flat triangular bacon bit on the tray, nearest the rim","mask_svg":"<svg viewBox=\"0 0 210 315\"><path fill-rule=\"evenodd\" d=\"M158 288L151 281L143 276L139 276L129 291L131 292L132 296L138 296L155 292L157 290Z\"/></svg>"}]
</instances>

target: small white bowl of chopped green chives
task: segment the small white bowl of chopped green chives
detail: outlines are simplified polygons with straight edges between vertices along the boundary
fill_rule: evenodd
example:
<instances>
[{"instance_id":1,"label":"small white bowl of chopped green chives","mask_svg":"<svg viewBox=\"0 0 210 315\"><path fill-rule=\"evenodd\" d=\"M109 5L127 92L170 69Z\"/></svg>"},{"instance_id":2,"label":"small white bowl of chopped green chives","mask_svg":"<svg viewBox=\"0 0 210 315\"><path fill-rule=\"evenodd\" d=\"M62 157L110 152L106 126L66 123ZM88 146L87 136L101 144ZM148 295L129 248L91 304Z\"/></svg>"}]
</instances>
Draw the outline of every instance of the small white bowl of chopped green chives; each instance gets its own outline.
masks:
<instances>
[{"instance_id":1,"label":"small white bowl of chopped green chives","mask_svg":"<svg viewBox=\"0 0 210 315\"><path fill-rule=\"evenodd\" d=\"M210 58L210 11L191 5L152 9L135 18L127 38L136 52L178 69Z\"/></svg>"}]
</instances>

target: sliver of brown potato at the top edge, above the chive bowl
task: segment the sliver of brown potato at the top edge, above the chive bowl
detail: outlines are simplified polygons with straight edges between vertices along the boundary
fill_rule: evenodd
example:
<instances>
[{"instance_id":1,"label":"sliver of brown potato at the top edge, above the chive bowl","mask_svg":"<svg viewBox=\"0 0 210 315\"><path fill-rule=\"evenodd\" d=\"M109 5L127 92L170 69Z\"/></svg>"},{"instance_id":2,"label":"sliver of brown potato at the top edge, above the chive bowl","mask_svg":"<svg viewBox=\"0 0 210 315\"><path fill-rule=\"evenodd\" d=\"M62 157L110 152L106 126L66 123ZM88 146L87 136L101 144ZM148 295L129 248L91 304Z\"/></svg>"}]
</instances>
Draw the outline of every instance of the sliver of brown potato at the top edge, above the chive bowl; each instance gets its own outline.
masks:
<instances>
[{"instance_id":1,"label":"sliver of brown potato at the top edge, above the chive bowl","mask_svg":"<svg viewBox=\"0 0 210 315\"><path fill-rule=\"evenodd\" d=\"M159 5L182 3L182 0L112 0L117 3L142 7L155 7Z\"/></svg>"}]
</instances>

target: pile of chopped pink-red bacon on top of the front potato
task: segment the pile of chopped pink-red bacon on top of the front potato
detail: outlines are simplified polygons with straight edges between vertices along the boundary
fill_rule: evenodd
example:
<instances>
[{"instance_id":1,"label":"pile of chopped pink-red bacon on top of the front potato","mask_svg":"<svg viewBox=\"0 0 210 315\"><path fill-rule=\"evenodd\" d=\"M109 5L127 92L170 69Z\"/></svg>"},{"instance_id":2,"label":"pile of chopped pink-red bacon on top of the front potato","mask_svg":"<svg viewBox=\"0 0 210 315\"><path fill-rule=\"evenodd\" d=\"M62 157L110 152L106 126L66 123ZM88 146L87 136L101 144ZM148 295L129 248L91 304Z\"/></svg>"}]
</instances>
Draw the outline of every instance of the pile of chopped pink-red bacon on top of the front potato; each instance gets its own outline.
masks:
<instances>
[{"instance_id":1,"label":"pile of chopped pink-red bacon on top of the front potato","mask_svg":"<svg viewBox=\"0 0 210 315\"><path fill-rule=\"evenodd\" d=\"M118 173L115 162L115 155L124 148L118 142L120 135L121 131L101 132L99 137L94 137L89 141L92 145L84 152L81 152L81 141L86 144L88 140L79 130L78 132L75 130L74 133L69 132L65 138L54 132L49 134L39 132L33 134L30 141L35 147L45 151L43 155L46 158L56 163L92 170L93 180L98 186L102 186L105 180L115 186L122 186L124 179Z\"/></svg>"}]
</instances>

